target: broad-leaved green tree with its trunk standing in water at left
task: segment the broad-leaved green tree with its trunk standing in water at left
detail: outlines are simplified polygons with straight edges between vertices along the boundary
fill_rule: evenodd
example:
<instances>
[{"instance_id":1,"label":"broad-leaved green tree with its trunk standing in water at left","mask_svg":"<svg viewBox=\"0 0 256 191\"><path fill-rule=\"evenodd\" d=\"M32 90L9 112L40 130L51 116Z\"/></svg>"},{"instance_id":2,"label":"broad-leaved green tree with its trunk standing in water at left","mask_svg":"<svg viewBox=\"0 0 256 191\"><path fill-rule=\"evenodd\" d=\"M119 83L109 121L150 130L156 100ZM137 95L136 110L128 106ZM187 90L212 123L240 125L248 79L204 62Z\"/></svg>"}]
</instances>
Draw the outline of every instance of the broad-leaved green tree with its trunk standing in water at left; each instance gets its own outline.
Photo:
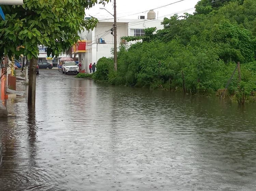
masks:
<instances>
[{"instance_id":1,"label":"broad-leaved green tree with its trunk standing in water at left","mask_svg":"<svg viewBox=\"0 0 256 191\"><path fill-rule=\"evenodd\" d=\"M5 21L0 22L1 54L30 59L28 105L35 103L35 68L38 45L47 47L47 55L58 56L77 40L78 32L96 26L97 19L85 18L85 8L110 0L24 0L22 6L1 6Z\"/></svg>"}]
</instances>

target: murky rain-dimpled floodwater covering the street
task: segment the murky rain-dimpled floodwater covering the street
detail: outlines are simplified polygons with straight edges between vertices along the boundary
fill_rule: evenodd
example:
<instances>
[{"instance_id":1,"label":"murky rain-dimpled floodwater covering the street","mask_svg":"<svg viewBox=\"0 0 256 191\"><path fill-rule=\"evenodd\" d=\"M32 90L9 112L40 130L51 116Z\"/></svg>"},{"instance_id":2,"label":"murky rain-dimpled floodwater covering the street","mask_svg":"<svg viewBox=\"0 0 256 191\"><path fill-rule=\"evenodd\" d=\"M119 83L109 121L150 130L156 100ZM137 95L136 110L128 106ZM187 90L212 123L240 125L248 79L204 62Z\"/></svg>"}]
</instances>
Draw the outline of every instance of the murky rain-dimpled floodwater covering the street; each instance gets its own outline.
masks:
<instances>
[{"instance_id":1,"label":"murky rain-dimpled floodwater covering the street","mask_svg":"<svg viewBox=\"0 0 256 191\"><path fill-rule=\"evenodd\" d=\"M26 95L8 107L1 191L256 188L256 104L40 70L35 111Z\"/></svg>"}]
</instances>

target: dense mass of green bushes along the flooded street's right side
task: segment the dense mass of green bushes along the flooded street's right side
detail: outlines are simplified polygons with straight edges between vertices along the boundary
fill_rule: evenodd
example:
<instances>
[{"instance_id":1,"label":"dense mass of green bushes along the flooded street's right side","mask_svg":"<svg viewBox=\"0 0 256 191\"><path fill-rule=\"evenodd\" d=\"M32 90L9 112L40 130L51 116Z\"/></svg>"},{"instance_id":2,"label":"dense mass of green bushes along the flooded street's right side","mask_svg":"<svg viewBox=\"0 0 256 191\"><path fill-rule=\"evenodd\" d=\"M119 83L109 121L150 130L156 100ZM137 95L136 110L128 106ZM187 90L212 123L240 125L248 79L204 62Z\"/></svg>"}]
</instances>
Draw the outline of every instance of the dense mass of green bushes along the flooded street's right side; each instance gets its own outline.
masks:
<instances>
[{"instance_id":1,"label":"dense mass of green bushes along the flooded street's right side","mask_svg":"<svg viewBox=\"0 0 256 191\"><path fill-rule=\"evenodd\" d=\"M101 58L95 79L170 90L182 90L185 82L187 92L209 94L225 88L240 62L242 81L236 71L227 90L246 99L256 90L255 1L202 0L196 8L194 15L165 18L162 30L146 29L143 42L119 47L117 72L112 58Z\"/></svg>"}]
</instances>

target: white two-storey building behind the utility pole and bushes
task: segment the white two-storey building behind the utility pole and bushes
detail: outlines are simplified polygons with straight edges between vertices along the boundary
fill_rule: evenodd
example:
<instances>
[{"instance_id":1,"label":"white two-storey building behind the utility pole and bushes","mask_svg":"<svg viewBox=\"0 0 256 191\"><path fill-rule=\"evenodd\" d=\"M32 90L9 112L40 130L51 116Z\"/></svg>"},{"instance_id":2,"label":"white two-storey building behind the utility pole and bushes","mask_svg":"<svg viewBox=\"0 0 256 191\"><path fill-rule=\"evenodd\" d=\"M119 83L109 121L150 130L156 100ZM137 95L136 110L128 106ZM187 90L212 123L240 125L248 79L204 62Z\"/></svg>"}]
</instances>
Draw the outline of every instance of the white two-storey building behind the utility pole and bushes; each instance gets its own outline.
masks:
<instances>
[{"instance_id":1,"label":"white two-storey building behind the utility pole and bushes","mask_svg":"<svg viewBox=\"0 0 256 191\"><path fill-rule=\"evenodd\" d=\"M157 19L117 19L117 47L120 43L131 45L136 42L124 42L120 39L123 36L144 36L144 29L156 27L157 30L163 29L162 20ZM101 57L113 57L114 36L111 34L114 19L99 19L97 27L93 31L83 31L80 34L81 43L85 43L85 51L73 51L78 54L79 62L82 63L82 70L89 71L89 64L96 63Z\"/></svg>"}]
</instances>

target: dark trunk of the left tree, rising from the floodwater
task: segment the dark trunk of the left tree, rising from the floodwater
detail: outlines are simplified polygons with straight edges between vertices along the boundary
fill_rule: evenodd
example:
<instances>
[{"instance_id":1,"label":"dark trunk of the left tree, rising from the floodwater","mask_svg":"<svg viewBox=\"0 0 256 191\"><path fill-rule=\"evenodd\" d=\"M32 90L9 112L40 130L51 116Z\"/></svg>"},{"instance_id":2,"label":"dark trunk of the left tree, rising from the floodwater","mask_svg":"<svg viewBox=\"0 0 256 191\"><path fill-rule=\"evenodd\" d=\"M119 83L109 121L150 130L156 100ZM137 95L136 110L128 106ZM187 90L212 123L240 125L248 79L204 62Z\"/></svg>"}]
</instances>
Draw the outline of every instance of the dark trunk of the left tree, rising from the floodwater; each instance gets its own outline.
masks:
<instances>
[{"instance_id":1,"label":"dark trunk of the left tree, rising from the floodwater","mask_svg":"<svg viewBox=\"0 0 256 191\"><path fill-rule=\"evenodd\" d=\"M29 80L28 80L28 106L35 107L35 77L36 77L37 59L32 58L29 63Z\"/></svg>"}]
</instances>

